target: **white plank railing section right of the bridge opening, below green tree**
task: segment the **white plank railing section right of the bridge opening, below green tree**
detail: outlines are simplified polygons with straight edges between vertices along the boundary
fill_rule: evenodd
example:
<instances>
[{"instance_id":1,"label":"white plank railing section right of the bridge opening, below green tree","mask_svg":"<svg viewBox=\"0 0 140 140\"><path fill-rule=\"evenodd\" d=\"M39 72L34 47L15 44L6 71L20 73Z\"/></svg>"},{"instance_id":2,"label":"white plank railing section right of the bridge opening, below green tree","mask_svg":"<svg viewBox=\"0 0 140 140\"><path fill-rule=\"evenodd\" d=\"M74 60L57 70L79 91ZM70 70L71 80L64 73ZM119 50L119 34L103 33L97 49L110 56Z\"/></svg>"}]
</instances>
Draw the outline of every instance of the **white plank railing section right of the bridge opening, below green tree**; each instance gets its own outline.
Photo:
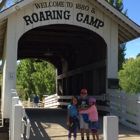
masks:
<instances>
[{"instance_id":1,"label":"white plank railing section right of the bridge opening, below green tree","mask_svg":"<svg viewBox=\"0 0 140 140\"><path fill-rule=\"evenodd\" d=\"M140 131L140 94L131 95L125 92L106 94L106 111L119 117L119 122Z\"/></svg>"}]
</instances>

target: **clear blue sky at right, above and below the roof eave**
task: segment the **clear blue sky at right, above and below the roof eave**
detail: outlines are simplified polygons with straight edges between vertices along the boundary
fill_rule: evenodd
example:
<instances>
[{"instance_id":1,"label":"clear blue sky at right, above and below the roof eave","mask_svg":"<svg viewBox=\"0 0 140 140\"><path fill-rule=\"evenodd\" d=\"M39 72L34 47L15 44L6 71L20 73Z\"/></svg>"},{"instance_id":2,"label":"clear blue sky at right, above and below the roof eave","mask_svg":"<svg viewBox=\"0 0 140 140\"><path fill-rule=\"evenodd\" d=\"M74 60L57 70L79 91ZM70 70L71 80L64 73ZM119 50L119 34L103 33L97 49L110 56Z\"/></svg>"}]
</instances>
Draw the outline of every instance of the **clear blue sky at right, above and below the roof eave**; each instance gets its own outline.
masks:
<instances>
[{"instance_id":1,"label":"clear blue sky at right, above and below the roof eave","mask_svg":"<svg viewBox=\"0 0 140 140\"><path fill-rule=\"evenodd\" d=\"M140 26L140 0L123 0L124 10L127 9L128 17ZM126 43L125 58L130 58L140 53L140 38Z\"/></svg>"}]
</instances>

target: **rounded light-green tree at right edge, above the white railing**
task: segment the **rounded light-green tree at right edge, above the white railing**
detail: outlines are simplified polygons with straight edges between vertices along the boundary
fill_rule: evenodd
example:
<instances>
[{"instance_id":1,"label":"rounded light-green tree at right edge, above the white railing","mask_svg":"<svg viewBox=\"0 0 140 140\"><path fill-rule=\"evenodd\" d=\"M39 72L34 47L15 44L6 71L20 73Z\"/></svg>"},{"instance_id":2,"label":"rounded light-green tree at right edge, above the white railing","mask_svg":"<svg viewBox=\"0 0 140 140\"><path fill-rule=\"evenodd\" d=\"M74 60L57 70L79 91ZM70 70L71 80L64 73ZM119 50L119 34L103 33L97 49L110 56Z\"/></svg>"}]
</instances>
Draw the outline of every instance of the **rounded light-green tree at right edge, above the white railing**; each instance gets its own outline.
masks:
<instances>
[{"instance_id":1,"label":"rounded light-green tree at right edge, above the white railing","mask_svg":"<svg viewBox=\"0 0 140 140\"><path fill-rule=\"evenodd\" d=\"M140 93L140 57L130 58L123 63L118 76L123 90L130 94Z\"/></svg>"}]
</instances>

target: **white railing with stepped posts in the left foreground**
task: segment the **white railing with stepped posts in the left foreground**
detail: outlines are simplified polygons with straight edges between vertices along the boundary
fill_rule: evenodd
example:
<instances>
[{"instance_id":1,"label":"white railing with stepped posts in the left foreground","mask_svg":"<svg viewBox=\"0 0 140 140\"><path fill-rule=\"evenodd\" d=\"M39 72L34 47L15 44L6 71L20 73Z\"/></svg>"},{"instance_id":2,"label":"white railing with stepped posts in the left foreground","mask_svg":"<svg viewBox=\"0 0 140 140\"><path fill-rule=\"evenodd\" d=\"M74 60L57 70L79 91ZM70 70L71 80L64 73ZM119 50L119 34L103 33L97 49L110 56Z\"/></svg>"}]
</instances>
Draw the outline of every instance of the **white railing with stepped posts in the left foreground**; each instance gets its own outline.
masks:
<instances>
[{"instance_id":1,"label":"white railing with stepped posts in the left foreground","mask_svg":"<svg viewBox=\"0 0 140 140\"><path fill-rule=\"evenodd\" d=\"M11 90L10 140L30 138L30 120L25 112L16 90ZM26 129L26 132L25 132Z\"/></svg>"}]
</instances>

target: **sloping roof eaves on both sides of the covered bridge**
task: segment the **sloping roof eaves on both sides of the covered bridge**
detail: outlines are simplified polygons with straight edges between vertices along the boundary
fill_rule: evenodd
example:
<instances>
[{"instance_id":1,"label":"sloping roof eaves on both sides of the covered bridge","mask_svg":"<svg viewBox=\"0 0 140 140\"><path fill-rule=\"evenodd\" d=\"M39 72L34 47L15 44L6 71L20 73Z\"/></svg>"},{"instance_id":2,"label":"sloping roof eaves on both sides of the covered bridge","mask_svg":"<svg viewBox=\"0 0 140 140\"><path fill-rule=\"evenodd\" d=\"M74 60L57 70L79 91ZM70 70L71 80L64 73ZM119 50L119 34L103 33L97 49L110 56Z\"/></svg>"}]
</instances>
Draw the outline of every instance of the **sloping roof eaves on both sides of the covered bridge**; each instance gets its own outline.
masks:
<instances>
[{"instance_id":1,"label":"sloping roof eaves on both sides of the covered bridge","mask_svg":"<svg viewBox=\"0 0 140 140\"><path fill-rule=\"evenodd\" d=\"M88 0L113 19L118 24L118 43L122 44L140 37L140 26L134 23L130 18L119 12L115 7L105 0ZM19 8L23 9L34 3L35 0L24 0L13 5L7 10L0 13L0 58L4 47L4 38L7 30L7 19L11 14L18 12Z\"/></svg>"}]
</instances>

